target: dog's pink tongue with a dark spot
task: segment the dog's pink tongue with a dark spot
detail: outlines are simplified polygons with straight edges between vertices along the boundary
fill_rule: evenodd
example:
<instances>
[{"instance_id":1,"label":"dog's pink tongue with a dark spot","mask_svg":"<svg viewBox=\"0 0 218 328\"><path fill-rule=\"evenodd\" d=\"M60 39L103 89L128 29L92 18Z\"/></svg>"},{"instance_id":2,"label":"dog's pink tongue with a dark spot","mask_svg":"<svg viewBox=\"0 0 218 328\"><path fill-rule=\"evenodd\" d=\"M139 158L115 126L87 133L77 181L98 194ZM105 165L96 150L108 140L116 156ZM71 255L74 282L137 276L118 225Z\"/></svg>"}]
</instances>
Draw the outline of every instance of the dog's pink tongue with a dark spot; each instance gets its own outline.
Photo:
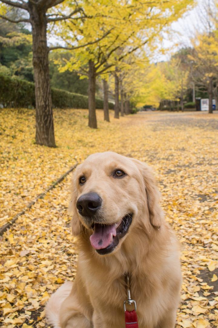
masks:
<instances>
[{"instance_id":1,"label":"dog's pink tongue with a dark spot","mask_svg":"<svg viewBox=\"0 0 218 328\"><path fill-rule=\"evenodd\" d=\"M110 226L95 225L94 232L90 236L92 247L102 249L112 243L113 236L116 236L116 224Z\"/></svg>"}]
</instances>

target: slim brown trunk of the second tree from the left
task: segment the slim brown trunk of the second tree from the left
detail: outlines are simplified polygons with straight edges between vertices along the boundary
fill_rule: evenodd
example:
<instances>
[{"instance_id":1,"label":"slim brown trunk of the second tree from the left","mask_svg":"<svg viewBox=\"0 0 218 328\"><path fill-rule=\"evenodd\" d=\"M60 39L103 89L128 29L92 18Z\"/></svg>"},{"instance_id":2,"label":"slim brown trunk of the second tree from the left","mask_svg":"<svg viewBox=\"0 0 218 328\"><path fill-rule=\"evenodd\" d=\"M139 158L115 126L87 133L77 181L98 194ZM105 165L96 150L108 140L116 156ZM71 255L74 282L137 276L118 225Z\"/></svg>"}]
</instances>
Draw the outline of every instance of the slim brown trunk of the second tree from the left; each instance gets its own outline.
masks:
<instances>
[{"instance_id":1,"label":"slim brown trunk of the second tree from the left","mask_svg":"<svg viewBox=\"0 0 218 328\"><path fill-rule=\"evenodd\" d=\"M94 62L89 60L89 127L97 129L97 119L95 113L95 82L96 74Z\"/></svg>"}]
</instances>

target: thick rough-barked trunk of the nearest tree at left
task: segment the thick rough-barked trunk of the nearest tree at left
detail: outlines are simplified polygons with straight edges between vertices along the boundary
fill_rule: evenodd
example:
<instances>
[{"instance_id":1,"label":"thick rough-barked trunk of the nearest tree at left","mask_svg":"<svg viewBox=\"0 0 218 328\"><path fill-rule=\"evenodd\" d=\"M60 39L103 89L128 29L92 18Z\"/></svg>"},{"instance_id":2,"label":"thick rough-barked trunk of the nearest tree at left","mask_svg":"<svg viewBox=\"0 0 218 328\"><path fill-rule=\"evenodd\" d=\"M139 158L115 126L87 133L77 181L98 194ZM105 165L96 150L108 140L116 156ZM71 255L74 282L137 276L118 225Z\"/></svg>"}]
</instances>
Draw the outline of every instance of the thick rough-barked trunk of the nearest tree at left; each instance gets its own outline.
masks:
<instances>
[{"instance_id":1,"label":"thick rough-barked trunk of the nearest tree at left","mask_svg":"<svg viewBox=\"0 0 218 328\"><path fill-rule=\"evenodd\" d=\"M33 69L36 97L36 143L56 147L49 79L45 11L29 4L33 36Z\"/></svg>"}]
</instances>

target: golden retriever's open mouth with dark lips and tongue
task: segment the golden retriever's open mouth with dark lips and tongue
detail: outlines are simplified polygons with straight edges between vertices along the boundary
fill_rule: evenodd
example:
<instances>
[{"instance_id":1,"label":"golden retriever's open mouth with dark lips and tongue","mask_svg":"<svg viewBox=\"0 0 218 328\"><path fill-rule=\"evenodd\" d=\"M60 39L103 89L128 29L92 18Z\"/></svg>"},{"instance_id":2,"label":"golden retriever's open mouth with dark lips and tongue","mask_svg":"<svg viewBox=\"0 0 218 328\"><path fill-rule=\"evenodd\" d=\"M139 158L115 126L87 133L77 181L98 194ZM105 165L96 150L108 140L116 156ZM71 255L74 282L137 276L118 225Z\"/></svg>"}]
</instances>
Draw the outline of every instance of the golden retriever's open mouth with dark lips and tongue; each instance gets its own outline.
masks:
<instances>
[{"instance_id":1,"label":"golden retriever's open mouth with dark lips and tongue","mask_svg":"<svg viewBox=\"0 0 218 328\"><path fill-rule=\"evenodd\" d=\"M119 244L120 238L124 237L132 223L133 214L125 215L122 220L112 225L95 223L93 234L90 236L92 247L98 254L105 255L113 252Z\"/></svg>"}]
</instances>

